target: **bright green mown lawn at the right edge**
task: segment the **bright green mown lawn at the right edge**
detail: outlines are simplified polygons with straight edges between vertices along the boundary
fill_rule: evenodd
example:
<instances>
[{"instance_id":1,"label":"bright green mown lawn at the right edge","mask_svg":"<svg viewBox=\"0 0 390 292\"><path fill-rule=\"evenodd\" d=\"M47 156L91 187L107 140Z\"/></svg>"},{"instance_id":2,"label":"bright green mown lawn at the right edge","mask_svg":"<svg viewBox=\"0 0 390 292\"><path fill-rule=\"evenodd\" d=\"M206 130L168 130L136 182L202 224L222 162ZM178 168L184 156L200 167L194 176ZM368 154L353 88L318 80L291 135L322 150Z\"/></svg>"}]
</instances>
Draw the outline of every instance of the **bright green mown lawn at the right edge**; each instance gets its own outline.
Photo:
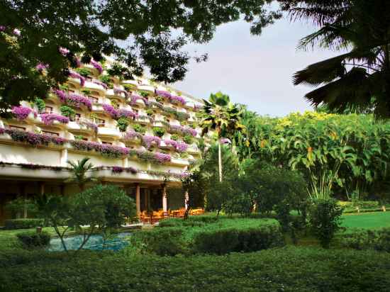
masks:
<instances>
[{"instance_id":1,"label":"bright green mown lawn at the right edge","mask_svg":"<svg viewBox=\"0 0 390 292\"><path fill-rule=\"evenodd\" d=\"M390 227L390 212L343 215L342 219L342 226L348 229L378 229Z\"/></svg>"}]
</instances>

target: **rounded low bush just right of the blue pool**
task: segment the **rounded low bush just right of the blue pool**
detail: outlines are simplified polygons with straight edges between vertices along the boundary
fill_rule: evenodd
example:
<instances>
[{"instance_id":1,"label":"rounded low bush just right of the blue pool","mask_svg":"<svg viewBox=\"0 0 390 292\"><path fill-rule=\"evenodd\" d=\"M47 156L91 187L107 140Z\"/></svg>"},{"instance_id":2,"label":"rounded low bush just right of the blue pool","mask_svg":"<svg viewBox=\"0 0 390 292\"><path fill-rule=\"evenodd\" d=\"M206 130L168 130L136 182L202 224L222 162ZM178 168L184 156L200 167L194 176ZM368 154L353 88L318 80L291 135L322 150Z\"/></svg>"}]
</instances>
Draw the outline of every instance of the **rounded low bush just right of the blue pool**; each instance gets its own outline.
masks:
<instances>
[{"instance_id":1,"label":"rounded low bush just right of the blue pool","mask_svg":"<svg viewBox=\"0 0 390 292\"><path fill-rule=\"evenodd\" d=\"M153 228L134 232L130 237L130 245L141 253L174 256L184 253L183 231L183 228Z\"/></svg>"}]
</instances>

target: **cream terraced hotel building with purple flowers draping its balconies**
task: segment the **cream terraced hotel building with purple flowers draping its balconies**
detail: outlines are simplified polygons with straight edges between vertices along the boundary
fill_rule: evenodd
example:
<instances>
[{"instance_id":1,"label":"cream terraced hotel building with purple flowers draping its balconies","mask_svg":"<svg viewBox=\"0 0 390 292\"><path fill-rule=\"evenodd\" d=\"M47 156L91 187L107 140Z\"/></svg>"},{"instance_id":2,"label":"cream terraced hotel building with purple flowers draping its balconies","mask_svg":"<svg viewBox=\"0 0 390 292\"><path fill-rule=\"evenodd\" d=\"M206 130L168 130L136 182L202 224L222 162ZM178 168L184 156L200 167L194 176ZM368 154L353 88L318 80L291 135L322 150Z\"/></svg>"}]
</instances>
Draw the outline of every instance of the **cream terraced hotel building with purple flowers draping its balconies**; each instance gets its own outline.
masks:
<instances>
[{"instance_id":1,"label":"cream terraced hotel building with purple flowers draping its balconies","mask_svg":"<svg viewBox=\"0 0 390 292\"><path fill-rule=\"evenodd\" d=\"M121 186L138 213L184 207L178 187L201 155L202 103L149 79L109 76L113 63L81 64L46 99L23 101L0 120L0 226L14 198L79 192L67 162L84 157L94 165L88 175Z\"/></svg>"}]
</instances>

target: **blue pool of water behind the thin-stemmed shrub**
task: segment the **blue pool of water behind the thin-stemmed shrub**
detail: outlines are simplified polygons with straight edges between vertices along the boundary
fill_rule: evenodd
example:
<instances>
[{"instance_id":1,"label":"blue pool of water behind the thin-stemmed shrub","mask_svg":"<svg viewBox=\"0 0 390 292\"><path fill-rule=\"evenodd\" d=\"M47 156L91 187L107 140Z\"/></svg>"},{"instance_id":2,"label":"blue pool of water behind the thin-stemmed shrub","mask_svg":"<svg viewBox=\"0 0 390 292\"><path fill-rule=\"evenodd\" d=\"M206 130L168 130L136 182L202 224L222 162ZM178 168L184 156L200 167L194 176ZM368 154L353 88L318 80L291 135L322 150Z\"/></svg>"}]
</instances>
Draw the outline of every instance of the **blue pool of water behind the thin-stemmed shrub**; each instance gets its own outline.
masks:
<instances>
[{"instance_id":1,"label":"blue pool of water behind the thin-stemmed shrub","mask_svg":"<svg viewBox=\"0 0 390 292\"><path fill-rule=\"evenodd\" d=\"M126 237L129 237L130 235L130 232L118 233L110 240L106 240L106 242L104 242L103 237L101 235L91 235L87 243L84 245L83 249L117 251L128 246L128 240L126 240ZM74 235L66 237L64 241L67 249L74 250L78 249L79 246L82 244L82 239L82 235ZM62 247L60 238L52 238L50 240L48 251L62 252L63 250L64 247Z\"/></svg>"}]
</instances>

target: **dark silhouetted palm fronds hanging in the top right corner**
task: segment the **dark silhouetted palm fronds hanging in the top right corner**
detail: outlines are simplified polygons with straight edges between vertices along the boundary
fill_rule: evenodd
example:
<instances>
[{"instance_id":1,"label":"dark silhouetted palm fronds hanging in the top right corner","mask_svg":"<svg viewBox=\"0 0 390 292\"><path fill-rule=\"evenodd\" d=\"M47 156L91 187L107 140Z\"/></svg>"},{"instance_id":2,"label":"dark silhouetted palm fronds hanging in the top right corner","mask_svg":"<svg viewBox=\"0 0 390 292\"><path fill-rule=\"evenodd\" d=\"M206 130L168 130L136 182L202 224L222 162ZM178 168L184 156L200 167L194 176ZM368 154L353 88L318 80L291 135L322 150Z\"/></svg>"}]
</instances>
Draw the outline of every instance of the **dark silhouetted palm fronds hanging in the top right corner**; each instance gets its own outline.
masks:
<instances>
[{"instance_id":1,"label":"dark silhouetted palm fronds hanging in the top right corner","mask_svg":"<svg viewBox=\"0 0 390 292\"><path fill-rule=\"evenodd\" d=\"M316 87L313 106L330 111L374 111L390 117L390 3L383 0L279 0L291 18L311 19L320 29L301 40L348 52L294 74L294 84ZM294 4L288 3L294 2Z\"/></svg>"}]
</instances>

